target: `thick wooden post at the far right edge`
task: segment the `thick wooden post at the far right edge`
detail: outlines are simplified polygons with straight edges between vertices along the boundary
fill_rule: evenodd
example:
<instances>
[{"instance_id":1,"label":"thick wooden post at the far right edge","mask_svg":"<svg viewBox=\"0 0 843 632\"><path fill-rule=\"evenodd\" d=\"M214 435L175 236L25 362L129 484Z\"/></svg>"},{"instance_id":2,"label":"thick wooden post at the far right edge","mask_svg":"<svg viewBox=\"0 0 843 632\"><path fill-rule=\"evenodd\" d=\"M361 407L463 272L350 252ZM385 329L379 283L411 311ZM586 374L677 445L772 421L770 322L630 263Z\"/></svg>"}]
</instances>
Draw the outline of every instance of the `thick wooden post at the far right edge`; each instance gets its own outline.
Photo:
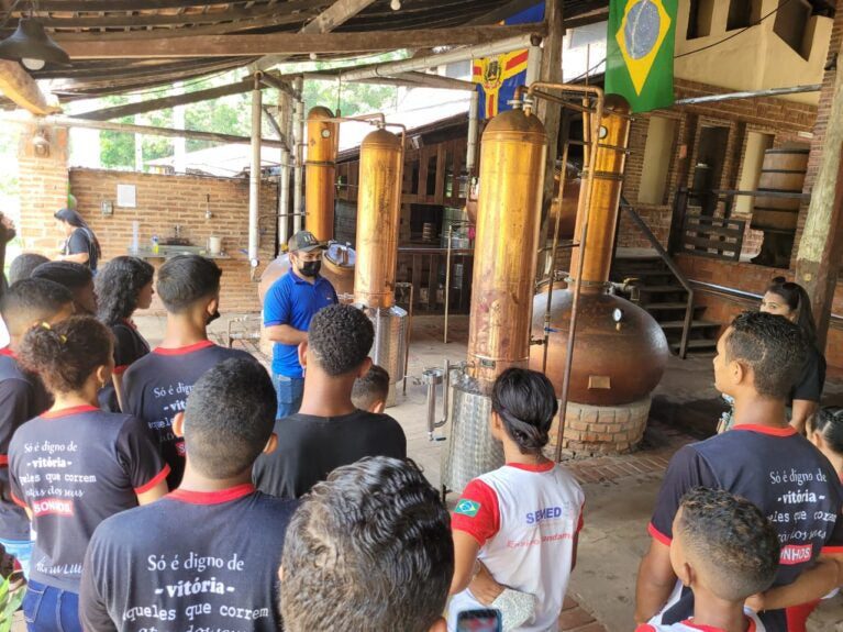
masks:
<instances>
[{"instance_id":1,"label":"thick wooden post at the far right edge","mask_svg":"<svg viewBox=\"0 0 843 632\"><path fill-rule=\"evenodd\" d=\"M831 111L825 122L820 167L810 191L811 201L796 259L796 280L811 297L820 348L825 346L843 255L843 49L838 52L836 65L825 73L834 74L831 85L823 86L823 92L832 90ZM823 93L820 95L820 102L822 97Z\"/></svg>"}]
</instances>

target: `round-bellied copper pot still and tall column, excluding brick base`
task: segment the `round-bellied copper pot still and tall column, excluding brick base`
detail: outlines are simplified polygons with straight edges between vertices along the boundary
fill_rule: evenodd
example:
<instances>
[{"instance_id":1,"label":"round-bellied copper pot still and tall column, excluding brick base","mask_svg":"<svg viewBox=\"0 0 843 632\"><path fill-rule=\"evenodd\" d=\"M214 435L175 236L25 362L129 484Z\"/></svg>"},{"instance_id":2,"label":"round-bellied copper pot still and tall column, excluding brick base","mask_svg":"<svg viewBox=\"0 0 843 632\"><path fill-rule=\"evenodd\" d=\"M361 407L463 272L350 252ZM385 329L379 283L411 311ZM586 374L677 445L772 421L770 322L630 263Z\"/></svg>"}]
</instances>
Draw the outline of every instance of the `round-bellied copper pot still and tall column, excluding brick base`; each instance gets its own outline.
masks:
<instances>
[{"instance_id":1,"label":"round-bellied copper pot still and tall column, excluding brick base","mask_svg":"<svg viewBox=\"0 0 843 632\"><path fill-rule=\"evenodd\" d=\"M626 102L607 97L594 156L590 201L588 208L580 204L575 230L579 235L585 213L590 213L583 268L579 248L574 248L568 289L556 290L551 302L545 373L561 395L574 300L572 281L581 277L568 389L568 400L577 403L619 406L646 398L667 365L667 340L658 323L635 303L608 293L629 127ZM532 325L536 339L544 334L546 302L546 292L534 298ZM531 348L532 368L542 368L543 355L541 345Z\"/></svg>"}]
</instances>

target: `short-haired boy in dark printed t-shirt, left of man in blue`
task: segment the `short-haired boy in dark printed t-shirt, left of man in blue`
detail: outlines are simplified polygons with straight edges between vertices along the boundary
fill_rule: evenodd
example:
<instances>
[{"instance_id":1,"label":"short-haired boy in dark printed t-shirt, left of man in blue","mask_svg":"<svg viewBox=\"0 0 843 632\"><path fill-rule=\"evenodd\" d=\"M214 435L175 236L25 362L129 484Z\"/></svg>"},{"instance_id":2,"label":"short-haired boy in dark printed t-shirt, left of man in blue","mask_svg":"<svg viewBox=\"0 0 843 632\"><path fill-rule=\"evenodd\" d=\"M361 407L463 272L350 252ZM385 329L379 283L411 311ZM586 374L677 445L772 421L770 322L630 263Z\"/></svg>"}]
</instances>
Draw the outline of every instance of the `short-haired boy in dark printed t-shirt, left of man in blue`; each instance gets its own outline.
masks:
<instances>
[{"instance_id":1,"label":"short-haired boy in dark printed t-shirt, left of man in blue","mask_svg":"<svg viewBox=\"0 0 843 632\"><path fill-rule=\"evenodd\" d=\"M199 255L167 259L155 287L167 310L164 341L123 374L123 408L149 424L170 466L170 489L185 472L185 443L173 432L173 420L193 384L224 359L252 357L208 340L208 323L220 315L221 276L215 263Z\"/></svg>"}]
</instances>

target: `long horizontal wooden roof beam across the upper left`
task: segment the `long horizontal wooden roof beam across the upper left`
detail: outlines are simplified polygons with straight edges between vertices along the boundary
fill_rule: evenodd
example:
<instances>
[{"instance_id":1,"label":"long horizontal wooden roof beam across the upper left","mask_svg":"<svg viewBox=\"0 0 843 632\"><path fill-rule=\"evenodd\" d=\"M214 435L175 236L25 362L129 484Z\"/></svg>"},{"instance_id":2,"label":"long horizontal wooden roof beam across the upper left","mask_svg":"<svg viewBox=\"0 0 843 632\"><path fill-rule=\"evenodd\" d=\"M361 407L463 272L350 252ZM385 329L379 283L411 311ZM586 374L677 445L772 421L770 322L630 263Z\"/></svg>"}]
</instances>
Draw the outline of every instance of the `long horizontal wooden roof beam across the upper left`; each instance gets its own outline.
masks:
<instances>
[{"instance_id":1,"label":"long horizontal wooden roof beam across the upper left","mask_svg":"<svg viewBox=\"0 0 843 632\"><path fill-rule=\"evenodd\" d=\"M408 31L362 33L267 33L260 35L210 35L202 37L162 37L134 41L62 42L71 59L162 58L177 57L252 57L265 55L302 55L309 53L375 53L397 48L433 46L476 46L519 35L543 36L546 25L456 26Z\"/></svg>"}]
</instances>

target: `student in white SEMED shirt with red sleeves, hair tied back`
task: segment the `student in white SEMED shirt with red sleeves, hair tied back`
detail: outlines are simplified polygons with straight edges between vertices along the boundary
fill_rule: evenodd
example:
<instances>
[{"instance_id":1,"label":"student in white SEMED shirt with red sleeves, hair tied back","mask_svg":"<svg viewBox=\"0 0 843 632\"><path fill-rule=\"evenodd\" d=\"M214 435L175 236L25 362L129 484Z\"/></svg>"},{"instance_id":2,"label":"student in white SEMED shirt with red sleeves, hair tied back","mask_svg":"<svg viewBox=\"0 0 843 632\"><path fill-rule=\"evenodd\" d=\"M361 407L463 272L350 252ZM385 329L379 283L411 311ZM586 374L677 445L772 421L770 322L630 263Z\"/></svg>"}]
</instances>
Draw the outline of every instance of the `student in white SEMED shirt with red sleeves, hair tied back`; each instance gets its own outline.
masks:
<instances>
[{"instance_id":1,"label":"student in white SEMED shirt with red sleeves, hair tied back","mask_svg":"<svg viewBox=\"0 0 843 632\"><path fill-rule=\"evenodd\" d=\"M461 611L492 602L507 630L556 627L585 501L574 477L543 454L557 410L541 373L509 368L492 386L489 424L506 465L472 480L456 503L451 630Z\"/></svg>"}]
</instances>

